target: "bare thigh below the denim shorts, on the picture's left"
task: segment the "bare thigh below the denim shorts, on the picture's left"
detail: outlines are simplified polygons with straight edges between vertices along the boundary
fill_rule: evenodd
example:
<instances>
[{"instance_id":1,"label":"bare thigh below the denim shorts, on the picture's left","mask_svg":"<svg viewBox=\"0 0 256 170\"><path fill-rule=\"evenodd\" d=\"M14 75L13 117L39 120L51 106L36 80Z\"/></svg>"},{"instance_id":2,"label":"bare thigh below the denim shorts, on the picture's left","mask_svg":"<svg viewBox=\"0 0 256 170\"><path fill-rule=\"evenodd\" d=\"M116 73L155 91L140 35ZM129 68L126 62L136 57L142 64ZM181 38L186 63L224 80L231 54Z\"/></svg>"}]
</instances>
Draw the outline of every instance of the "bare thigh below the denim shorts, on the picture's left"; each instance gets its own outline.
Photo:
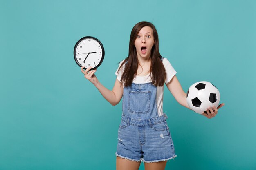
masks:
<instances>
[{"instance_id":1,"label":"bare thigh below the denim shorts, on the picture's left","mask_svg":"<svg viewBox=\"0 0 256 170\"><path fill-rule=\"evenodd\" d=\"M116 170L138 170L140 162L130 161L121 157L117 157Z\"/></svg>"}]
</instances>

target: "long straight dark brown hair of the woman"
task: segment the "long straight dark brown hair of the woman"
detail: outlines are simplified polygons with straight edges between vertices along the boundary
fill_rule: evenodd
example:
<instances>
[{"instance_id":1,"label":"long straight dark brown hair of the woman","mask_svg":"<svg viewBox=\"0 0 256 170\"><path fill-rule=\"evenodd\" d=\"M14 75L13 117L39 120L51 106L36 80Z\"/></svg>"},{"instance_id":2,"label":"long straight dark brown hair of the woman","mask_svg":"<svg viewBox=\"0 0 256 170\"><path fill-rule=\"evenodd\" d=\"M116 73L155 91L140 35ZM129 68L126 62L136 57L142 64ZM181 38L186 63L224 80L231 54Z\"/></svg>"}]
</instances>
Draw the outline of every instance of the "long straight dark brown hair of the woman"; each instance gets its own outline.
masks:
<instances>
[{"instance_id":1,"label":"long straight dark brown hair of the woman","mask_svg":"<svg viewBox=\"0 0 256 170\"><path fill-rule=\"evenodd\" d=\"M152 84L155 86L164 86L164 82L166 81L166 71L164 68L164 64L161 61L161 55L159 52L159 40L157 30L155 26L146 21L142 21L137 23L131 31L130 42L129 42L129 55L124 59L124 62L119 67L117 73L121 71L122 66L125 64L124 72L122 73L121 82L124 83L124 86L131 86L133 79L136 76L139 60L137 58L136 48L134 42L137 38L139 31L144 26L150 26L153 30L153 36L155 40L155 44L151 49L151 65L150 65L150 74Z\"/></svg>"}]
</instances>

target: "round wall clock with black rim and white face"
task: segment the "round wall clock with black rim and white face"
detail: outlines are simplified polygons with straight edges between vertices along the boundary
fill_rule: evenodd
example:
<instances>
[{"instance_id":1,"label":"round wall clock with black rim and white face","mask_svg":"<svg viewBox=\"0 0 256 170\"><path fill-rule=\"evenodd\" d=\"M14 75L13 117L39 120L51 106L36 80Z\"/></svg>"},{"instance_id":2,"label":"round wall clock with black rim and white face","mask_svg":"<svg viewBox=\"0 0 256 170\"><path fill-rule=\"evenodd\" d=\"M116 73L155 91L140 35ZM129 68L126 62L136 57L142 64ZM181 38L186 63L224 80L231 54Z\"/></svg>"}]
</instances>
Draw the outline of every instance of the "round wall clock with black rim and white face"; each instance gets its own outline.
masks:
<instances>
[{"instance_id":1,"label":"round wall clock with black rim and white face","mask_svg":"<svg viewBox=\"0 0 256 170\"><path fill-rule=\"evenodd\" d=\"M101 64L104 58L104 48L99 40L85 37L76 43L74 55L78 65L94 68Z\"/></svg>"}]
</instances>

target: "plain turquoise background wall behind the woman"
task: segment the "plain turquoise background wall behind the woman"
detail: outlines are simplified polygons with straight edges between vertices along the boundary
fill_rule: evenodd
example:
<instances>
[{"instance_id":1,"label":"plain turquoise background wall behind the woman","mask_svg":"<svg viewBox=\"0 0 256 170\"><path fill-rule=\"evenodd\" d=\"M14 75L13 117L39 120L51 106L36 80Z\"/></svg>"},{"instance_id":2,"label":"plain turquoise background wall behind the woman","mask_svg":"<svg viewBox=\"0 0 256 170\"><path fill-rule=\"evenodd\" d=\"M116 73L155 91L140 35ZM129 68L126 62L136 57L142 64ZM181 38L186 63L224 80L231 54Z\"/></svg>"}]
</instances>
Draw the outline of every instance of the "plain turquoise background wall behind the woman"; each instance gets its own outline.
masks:
<instances>
[{"instance_id":1,"label":"plain turquoise background wall behind the woman","mask_svg":"<svg viewBox=\"0 0 256 170\"><path fill-rule=\"evenodd\" d=\"M121 102L113 107L83 77L73 50L83 36L101 40L96 75L112 89L144 20L184 91L209 81L225 103L207 119L165 86L177 154L166 170L256 169L255 0L1 0L0 19L0 170L115 169Z\"/></svg>"}]
</instances>

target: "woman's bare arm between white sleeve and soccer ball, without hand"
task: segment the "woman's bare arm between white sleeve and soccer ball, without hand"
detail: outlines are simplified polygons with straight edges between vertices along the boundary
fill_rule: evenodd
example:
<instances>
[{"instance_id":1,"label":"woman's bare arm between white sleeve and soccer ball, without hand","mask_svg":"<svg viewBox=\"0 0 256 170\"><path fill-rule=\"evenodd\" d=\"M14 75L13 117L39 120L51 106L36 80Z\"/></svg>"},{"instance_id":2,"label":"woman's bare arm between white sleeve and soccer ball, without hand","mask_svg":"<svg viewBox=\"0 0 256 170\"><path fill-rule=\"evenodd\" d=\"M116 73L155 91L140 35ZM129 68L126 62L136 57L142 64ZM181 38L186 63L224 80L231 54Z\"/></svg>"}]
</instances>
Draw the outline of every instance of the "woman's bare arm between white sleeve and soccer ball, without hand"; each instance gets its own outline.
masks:
<instances>
[{"instance_id":1,"label":"woman's bare arm between white sleeve and soccer ball, without hand","mask_svg":"<svg viewBox=\"0 0 256 170\"><path fill-rule=\"evenodd\" d=\"M183 91L176 75L171 79L170 82L168 82L168 84L166 84L166 86L180 105L191 110L186 102L186 93Z\"/></svg>"}]
</instances>

